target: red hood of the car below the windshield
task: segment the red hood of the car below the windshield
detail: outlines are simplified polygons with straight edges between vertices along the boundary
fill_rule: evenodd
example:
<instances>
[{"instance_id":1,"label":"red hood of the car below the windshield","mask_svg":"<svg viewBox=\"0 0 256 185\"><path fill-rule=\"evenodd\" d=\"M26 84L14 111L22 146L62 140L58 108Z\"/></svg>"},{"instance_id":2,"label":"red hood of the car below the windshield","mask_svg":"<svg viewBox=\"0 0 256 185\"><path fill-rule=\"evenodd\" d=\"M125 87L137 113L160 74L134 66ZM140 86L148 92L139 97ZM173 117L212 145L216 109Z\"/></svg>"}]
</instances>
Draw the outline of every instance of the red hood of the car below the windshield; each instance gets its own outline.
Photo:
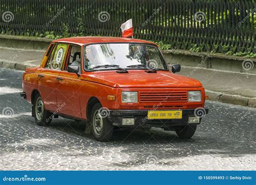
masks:
<instances>
[{"instance_id":1,"label":"red hood of the car below the windshield","mask_svg":"<svg viewBox=\"0 0 256 185\"><path fill-rule=\"evenodd\" d=\"M129 70L129 73L116 71L97 71L82 74L82 80L111 87L201 87L202 84L193 78L173 74L169 71L147 73L145 70Z\"/></svg>"}]
</instances>

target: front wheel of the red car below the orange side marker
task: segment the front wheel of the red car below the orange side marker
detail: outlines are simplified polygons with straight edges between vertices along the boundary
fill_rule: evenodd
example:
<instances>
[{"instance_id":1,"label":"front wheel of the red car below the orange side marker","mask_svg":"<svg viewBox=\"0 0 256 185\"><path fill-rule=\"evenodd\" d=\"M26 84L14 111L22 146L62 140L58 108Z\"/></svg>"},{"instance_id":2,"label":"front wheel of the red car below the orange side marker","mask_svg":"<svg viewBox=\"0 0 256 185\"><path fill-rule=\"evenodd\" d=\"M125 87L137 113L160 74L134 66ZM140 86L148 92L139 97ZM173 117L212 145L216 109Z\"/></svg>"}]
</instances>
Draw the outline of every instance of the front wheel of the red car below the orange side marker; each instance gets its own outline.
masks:
<instances>
[{"instance_id":1,"label":"front wheel of the red car below the orange side marker","mask_svg":"<svg viewBox=\"0 0 256 185\"><path fill-rule=\"evenodd\" d=\"M102 114L102 106L97 103L92 107L91 124L92 134L98 141L110 141L113 136L113 125L109 123L106 114Z\"/></svg>"}]
</instances>

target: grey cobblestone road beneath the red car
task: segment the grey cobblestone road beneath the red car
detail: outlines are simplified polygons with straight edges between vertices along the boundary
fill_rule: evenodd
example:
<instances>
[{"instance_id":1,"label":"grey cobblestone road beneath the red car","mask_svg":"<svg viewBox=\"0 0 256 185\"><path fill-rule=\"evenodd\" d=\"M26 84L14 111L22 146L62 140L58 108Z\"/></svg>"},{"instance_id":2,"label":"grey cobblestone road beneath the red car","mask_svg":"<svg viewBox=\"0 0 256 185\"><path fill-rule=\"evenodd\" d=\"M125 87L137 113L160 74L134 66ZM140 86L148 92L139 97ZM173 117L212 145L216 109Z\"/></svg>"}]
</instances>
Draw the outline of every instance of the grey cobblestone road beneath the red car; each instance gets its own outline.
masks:
<instances>
[{"instance_id":1,"label":"grey cobblestone road beneath the red car","mask_svg":"<svg viewBox=\"0 0 256 185\"><path fill-rule=\"evenodd\" d=\"M18 94L21 77L0 71L0 170L256 169L255 109L207 101L210 114L192 139L152 128L97 142L84 134L83 122L59 118L37 126Z\"/></svg>"}]
</instances>

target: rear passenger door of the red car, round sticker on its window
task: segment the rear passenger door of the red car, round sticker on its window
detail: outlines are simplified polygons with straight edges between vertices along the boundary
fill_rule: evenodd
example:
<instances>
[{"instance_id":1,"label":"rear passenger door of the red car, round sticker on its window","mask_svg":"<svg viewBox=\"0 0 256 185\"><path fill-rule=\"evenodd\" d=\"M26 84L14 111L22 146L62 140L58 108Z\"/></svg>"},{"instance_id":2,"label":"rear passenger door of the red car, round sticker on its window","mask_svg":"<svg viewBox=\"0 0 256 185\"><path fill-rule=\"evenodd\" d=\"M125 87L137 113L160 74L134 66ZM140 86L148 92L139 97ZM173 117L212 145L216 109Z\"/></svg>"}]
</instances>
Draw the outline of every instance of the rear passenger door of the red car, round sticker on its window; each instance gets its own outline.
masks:
<instances>
[{"instance_id":1,"label":"rear passenger door of the red car, round sticker on its window","mask_svg":"<svg viewBox=\"0 0 256 185\"><path fill-rule=\"evenodd\" d=\"M50 57L38 74L38 90L44 101L45 109L55 112L57 106L58 76L62 69L68 44L55 44Z\"/></svg>"}]
</instances>

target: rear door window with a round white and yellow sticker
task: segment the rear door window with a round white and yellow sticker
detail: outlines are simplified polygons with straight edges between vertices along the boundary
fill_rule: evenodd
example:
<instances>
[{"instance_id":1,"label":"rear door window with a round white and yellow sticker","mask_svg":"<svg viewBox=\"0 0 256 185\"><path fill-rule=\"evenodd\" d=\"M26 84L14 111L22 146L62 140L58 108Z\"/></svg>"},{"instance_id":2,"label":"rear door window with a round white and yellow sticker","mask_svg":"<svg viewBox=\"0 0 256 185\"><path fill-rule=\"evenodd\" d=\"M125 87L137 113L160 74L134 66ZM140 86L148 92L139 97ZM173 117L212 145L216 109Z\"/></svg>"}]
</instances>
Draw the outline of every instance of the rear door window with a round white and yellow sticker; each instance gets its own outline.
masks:
<instances>
[{"instance_id":1,"label":"rear door window with a round white and yellow sticker","mask_svg":"<svg viewBox=\"0 0 256 185\"><path fill-rule=\"evenodd\" d=\"M57 44L52 50L46 68L61 70L68 44Z\"/></svg>"}]
</instances>

